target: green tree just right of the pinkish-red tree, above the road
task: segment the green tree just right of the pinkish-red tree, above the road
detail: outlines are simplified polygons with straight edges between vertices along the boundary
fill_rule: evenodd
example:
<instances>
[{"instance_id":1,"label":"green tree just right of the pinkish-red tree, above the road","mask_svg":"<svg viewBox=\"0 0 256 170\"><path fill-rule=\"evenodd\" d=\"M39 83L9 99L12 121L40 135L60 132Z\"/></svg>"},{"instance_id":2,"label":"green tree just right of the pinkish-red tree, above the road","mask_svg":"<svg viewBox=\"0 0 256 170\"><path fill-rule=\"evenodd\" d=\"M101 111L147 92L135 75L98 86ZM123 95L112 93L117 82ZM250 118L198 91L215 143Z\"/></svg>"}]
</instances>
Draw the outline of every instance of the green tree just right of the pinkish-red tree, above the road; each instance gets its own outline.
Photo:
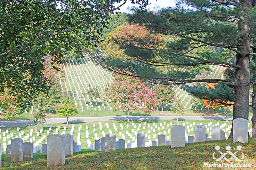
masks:
<instances>
[{"instance_id":1,"label":"green tree just right of the pinkish-red tree, above the road","mask_svg":"<svg viewBox=\"0 0 256 170\"><path fill-rule=\"evenodd\" d=\"M156 100L161 105L162 111L164 111L164 105L171 103L175 99L175 93L170 85L155 85L154 90L157 94Z\"/></svg>"}]
</instances>

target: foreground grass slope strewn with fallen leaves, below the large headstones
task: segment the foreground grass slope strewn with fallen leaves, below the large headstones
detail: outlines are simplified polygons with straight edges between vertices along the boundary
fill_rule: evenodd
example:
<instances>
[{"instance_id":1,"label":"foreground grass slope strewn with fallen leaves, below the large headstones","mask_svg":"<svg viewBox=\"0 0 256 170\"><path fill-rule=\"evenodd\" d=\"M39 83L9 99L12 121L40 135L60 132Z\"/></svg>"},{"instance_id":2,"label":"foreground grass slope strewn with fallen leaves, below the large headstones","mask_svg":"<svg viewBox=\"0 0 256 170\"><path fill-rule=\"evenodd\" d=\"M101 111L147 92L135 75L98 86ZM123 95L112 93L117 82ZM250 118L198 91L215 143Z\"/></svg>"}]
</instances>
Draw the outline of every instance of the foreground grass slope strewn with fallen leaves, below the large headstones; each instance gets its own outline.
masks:
<instances>
[{"instance_id":1,"label":"foreground grass slope strewn with fallen leaves, below the large headstones","mask_svg":"<svg viewBox=\"0 0 256 170\"><path fill-rule=\"evenodd\" d=\"M238 145L242 146L241 152L244 154L242 161L226 161L221 159L216 161L212 158L215 146L220 146L221 152L226 152L226 146L230 146L230 152L236 152ZM47 156L34 154L33 159L24 159L23 162L13 162L2 156L3 170L28 170L28 169L68 169L68 170L184 170L184 169L239 169L239 170L255 170L256 167L256 138L249 138L249 143L232 143L232 140L208 141L194 144L186 144L185 147L171 148L167 146L155 146L146 148L117 149L111 152L95 152L88 149L82 149L82 152L76 152L74 156L65 158L64 166L47 167ZM242 153L236 154L237 158L241 158ZM219 158L221 154L215 153L215 157ZM230 155L226 156L230 159ZM252 167L203 167L204 163L218 164L251 164Z\"/></svg>"}]
</instances>

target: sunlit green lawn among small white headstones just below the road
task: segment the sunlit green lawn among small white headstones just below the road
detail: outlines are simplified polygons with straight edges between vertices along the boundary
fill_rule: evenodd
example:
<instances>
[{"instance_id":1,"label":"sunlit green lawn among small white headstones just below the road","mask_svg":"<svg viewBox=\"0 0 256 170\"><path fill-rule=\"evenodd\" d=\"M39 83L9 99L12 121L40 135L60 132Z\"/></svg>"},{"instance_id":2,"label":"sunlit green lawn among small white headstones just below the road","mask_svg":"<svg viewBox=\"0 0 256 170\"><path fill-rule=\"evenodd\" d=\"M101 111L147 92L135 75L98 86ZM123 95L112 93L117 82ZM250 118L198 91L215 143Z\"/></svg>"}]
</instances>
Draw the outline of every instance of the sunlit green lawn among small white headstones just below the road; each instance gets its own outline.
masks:
<instances>
[{"instance_id":1,"label":"sunlit green lawn among small white headstones just below the road","mask_svg":"<svg viewBox=\"0 0 256 170\"><path fill-rule=\"evenodd\" d=\"M146 122L147 125L144 125L144 122ZM165 122L165 125L164 125ZM188 124L187 124L188 122ZM195 125L202 123L203 125L207 125L208 123L212 122L212 125L217 124L217 122L219 122L219 125L217 126L221 126L222 124L226 123L226 126L224 126L223 129L228 128L229 125L231 125L231 121L230 122L225 122L225 121L217 121L217 120L181 120L178 123L180 125L183 125L183 123L185 123L185 130L186 133L189 135L194 136L194 129L192 130L191 127L189 127L190 132L188 132L188 125L190 126L190 124L192 124L192 127L194 128L195 125L193 125L195 122ZM250 126L249 129L251 129L252 126L252 122L250 122ZM107 129L106 123L108 123L109 125L109 129ZM113 123L115 123L117 131L115 131L114 127L113 127ZM132 126L132 123L134 123L134 126L136 125L137 127L134 128L134 126ZM116 135L116 138L121 139L122 135L120 136L120 132L122 134L124 134L125 136L125 143L128 142L128 140L131 141L131 143L134 143L134 141L132 141L132 138L130 138L130 136L128 136L128 134L126 134L126 131L130 132L132 134L133 137L136 138L135 135L135 131L137 133L142 133L144 131L145 134L150 135L150 139L148 139L148 137L146 137L146 142L148 142L149 140L154 141L155 139L157 139L157 135L160 132L161 134L164 134L165 131L165 139L171 140L171 133L168 132L169 129L171 129L170 123L172 123L172 125L177 124L177 122L175 120L133 120L132 123L129 123L129 127L127 128L127 124L126 121L124 120L120 120L120 121L101 121L101 125L102 125L102 130L104 131L104 133L107 135L108 130L111 130L111 132L113 134ZM153 123L155 123L155 126L153 126ZM162 123L162 125L164 126L164 129L162 129L162 127L160 127L160 123ZM78 132L80 132L80 141L81 141L81 145L82 145L82 149L89 149L88 143L87 143L87 139L89 139L92 143L96 140L96 138L94 137L94 133L93 129L95 129L99 139L101 139L101 137L103 137L103 134L101 133L100 130L100 126L99 126L99 121L97 122L75 122L75 123L70 123L69 126L67 126L65 123L56 123L56 124L52 124L52 132L50 132L50 134L55 133L55 129L58 128L58 126L60 126L60 129L58 130L58 134L61 134L63 131L65 131L65 133L70 133L70 130L72 129L71 124L74 125L74 131L73 131L73 139L75 141L77 141L77 136L78 136ZM93 127L93 124L95 124L95 127ZM123 129L120 128L120 124L122 124ZM139 127L141 124L141 127ZM169 127L167 127L167 124L169 124ZM78 127L82 125L82 129L81 131L78 131ZM149 125L149 128L148 128ZM156 128L160 127L160 129L158 130ZM212 125L210 125L212 127ZM67 130L64 130L64 126L66 126ZM86 126L88 126L88 129L86 129ZM145 126L145 129L143 129L143 126ZM7 139L7 135L10 135L11 133L13 133L13 137L15 136L19 136L19 134L21 133L21 131L24 132L24 135L21 135L21 137L19 138L25 138L25 136L27 134L29 134L30 129L33 129L33 133L32 136L29 136L29 138L35 137L35 141L33 141L33 143L36 143L36 141L39 141L39 139L41 139L41 137L43 137L43 135L47 136L47 130L49 129L50 125L49 124L43 124L43 125L38 125L38 131L41 129L41 127L43 127L43 133L40 133L40 136L37 136L37 134L35 133L35 126L20 126L19 127L19 131L17 131L17 127L6 127L6 128L1 128L1 138L0 138L0 142L2 143L2 152L4 152L3 150L3 145L4 143L6 143L6 145L8 144L8 141L12 139L12 137L10 137L10 139ZM138 130L138 127L140 128ZM153 130L151 130L151 127L153 127L153 129L155 129L155 132L153 132ZM207 127L209 128L209 126ZM206 128L206 130L207 130ZM9 133L5 134L6 137L6 141L4 141L4 137L3 137L3 132L6 132L6 129L9 130ZM134 129L134 132L132 132L132 129ZM89 132L89 138L86 138L86 130L88 130ZM148 133L148 130L150 130L150 133ZM210 132L211 130L209 129L209 131L207 131L208 137L210 136ZM225 133L227 133L227 136L229 136L229 130L226 131ZM156 134L156 138L153 137L153 134ZM251 134L250 134L251 135ZM29 139L25 140L24 142L29 141ZM44 141L42 141L42 144L46 143L46 138L44 139ZM41 146L41 143L39 144L39 146Z\"/></svg>"}]
</instances>

